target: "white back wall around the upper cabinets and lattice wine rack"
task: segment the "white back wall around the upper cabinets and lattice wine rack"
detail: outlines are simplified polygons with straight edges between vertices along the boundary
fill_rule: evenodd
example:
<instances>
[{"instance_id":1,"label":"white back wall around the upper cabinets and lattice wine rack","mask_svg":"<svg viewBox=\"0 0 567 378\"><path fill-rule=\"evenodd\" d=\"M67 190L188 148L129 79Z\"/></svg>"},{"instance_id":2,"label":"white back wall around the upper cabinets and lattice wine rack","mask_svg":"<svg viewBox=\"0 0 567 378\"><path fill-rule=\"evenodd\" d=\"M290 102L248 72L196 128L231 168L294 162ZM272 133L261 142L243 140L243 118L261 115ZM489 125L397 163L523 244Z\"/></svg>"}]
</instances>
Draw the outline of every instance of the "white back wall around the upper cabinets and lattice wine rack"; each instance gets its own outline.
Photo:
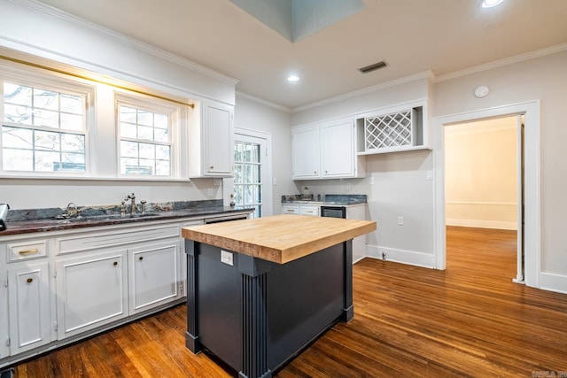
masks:
<instances>
[{"instance_id":1,"label":"white back wall around the upper cabinets and lattice wine rack","mask_svg":"<svg viewBox=\"0 0 567 378\"><path fill-rule=\"evenodd\" d=\"M416 102L429 96L430 87L430 73L418 74L295 112L292 122L298 126ZM384 252L386 259L392 261L432 267L433 181L426 180L432 166L431 150L368 155L366 178L296 181L297 192L307 185L312 193L366 194L369 219L377 221L377 230L367 235L369 256L381 258ZM373 185L369 184L370 177L374 178ZM398 217L404 218L403 226L398 226Z\"/></svg>"}]
</instances>

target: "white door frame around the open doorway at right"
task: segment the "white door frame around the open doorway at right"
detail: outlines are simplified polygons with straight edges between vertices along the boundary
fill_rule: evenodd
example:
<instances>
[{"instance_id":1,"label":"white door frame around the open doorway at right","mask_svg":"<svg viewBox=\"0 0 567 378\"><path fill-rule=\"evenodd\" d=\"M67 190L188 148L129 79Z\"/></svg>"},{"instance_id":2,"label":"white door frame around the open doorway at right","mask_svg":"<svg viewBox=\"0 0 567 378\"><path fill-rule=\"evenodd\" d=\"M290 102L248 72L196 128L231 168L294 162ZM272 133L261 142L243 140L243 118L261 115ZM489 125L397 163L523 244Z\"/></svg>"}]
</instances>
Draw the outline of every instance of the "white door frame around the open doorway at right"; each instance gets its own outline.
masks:
<instances>
[{"instance_id":1,"label":"white door frame around the open doorway at right","mask_svg":"<svg viewBox=\"0 0 567 378\"><path fill-rule=\"evenodd\" d=\"M445 269L447 266L444 127L455 123L473 122L518 114L524 114L524 283L526 286L540 288L540 100L439 116L432 119L434 132L432 139L433 166L435 168L435 235L433 241L435 267L437 269ZM518 178L518 180L520 179ZM518 258L521 257L518 256Z\"/></svg>"}]
</instances>

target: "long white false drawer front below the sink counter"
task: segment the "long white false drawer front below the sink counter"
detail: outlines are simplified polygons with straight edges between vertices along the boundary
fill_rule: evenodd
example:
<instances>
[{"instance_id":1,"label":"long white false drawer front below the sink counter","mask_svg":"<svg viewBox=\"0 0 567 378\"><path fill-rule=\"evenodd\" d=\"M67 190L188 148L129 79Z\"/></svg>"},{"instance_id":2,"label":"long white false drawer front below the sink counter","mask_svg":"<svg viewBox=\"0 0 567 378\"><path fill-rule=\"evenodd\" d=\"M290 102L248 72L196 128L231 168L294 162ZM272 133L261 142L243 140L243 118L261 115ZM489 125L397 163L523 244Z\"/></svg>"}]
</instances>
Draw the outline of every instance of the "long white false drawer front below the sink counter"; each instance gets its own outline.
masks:
<instances>
[{"instance_id":1,"label":"long white false drawer front below the sink counter","mask_svg":"<svg viewBox=\"0 0 567 378\"><path fill-rule=\"evenodd\" d=\"M167 237L179 237L179 225L156 228L136 228L120 232L102 232L89 235L62 237L56 240L58 254L76 251L90 251L103 247L112 247L130 243L146 242Z\"/></svg>"}]
</instances>

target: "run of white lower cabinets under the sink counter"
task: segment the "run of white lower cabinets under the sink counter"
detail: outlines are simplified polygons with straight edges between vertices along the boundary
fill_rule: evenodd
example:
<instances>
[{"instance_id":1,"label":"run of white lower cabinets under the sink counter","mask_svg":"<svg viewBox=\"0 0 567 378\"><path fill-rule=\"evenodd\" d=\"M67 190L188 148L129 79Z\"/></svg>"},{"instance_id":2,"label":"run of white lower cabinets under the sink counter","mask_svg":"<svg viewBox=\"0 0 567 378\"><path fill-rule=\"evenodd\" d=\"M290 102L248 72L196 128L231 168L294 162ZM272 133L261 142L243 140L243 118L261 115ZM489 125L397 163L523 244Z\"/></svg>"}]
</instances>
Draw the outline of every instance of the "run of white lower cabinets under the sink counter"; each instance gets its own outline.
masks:
<instances>
[{"instance_id":1,"label":"run of white lower cabinets under the sink counter","mask_svg":"<svg viewBox=\"0 0 567 378\"><path fill-rule=\"evenodd\" d=\"M0 370L181 302L180 231L196 224L203 219L4 237Z\"/></svg>"}]
</instances>

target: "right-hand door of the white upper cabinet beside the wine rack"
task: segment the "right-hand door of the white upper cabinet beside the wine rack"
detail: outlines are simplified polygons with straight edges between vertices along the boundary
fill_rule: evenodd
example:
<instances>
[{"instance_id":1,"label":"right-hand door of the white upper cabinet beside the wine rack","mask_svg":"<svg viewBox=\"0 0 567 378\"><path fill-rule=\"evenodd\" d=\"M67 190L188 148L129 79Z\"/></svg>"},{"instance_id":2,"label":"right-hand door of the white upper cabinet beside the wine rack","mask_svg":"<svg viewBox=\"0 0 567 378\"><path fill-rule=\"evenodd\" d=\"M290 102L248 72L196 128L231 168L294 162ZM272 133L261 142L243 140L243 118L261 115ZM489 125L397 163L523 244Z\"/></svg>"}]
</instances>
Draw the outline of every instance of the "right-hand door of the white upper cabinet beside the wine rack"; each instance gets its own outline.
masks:
<instances>
[{"instance_id":1,"label":"right-hand door of the white upper cabinet beside the wine rack","mask_svg":"<svg viewBox=\"0 0 567 378\"><path fill-rule=\"evenodd\" d=\"M352 121L321 127L322 177L353 177L354 126Z\"/></svg>"}]
</instances>

